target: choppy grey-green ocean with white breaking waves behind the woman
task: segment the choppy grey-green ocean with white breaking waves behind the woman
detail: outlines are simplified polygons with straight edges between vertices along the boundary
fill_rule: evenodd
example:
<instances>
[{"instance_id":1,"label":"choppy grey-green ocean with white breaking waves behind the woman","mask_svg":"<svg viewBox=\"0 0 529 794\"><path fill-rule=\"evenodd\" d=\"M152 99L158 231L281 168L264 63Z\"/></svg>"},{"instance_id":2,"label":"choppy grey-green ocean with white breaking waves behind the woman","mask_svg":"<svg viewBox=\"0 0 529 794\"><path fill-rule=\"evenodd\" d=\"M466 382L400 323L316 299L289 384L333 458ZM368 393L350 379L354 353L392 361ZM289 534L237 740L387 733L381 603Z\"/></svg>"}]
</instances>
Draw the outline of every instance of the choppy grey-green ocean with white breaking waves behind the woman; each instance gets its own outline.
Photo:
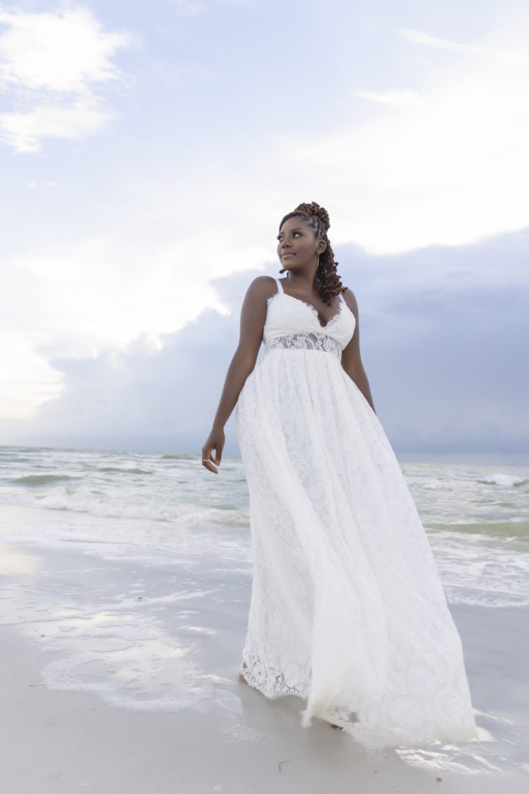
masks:
<instances>
[{"instance_id":1,"label":"choppy grey-green ocean with white breaking waves behind the woman","mask_svg":"<svg viewBox=\"0 0 529 794\"><path fill-rule=\"evenodd\" d=\"M529 468L402 463L449 603L529 605ZM15 509L16 508L16 509ZM242 461L0 447L0 540L105 560L236 564L251 576Z\"/></svg>"}]
</instances>

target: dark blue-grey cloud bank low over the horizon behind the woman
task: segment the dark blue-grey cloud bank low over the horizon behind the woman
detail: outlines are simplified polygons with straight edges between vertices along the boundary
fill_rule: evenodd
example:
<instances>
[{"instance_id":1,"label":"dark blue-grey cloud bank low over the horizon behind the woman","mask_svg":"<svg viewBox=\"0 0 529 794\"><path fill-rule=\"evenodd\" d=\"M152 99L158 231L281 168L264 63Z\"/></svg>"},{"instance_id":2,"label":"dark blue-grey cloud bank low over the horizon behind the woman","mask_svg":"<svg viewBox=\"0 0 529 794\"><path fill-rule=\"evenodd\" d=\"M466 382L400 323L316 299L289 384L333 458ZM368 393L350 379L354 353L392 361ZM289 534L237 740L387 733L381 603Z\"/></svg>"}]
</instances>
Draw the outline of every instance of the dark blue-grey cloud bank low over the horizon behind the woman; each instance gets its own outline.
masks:
<instances>
[{"instance_id":1,"label":"dark blue-grey cloud bank low over the horizon behind the woman","mask_svg":"<svg viewBox=\"0 0 529 794\"><path fill-rule=\"evenodd\" d=\"M397 256L335 251L357 295L362 360L395 451L527 455L529 229ZM214 279L228 313L206 309L159 347L140 335L125 349L52 358L62 394L33 422L15 422L8 441L199 450L236 349L243 294L261 273ZM237 453L233 415L226 435L226 452Z\"/></svg>"}]
</instances>

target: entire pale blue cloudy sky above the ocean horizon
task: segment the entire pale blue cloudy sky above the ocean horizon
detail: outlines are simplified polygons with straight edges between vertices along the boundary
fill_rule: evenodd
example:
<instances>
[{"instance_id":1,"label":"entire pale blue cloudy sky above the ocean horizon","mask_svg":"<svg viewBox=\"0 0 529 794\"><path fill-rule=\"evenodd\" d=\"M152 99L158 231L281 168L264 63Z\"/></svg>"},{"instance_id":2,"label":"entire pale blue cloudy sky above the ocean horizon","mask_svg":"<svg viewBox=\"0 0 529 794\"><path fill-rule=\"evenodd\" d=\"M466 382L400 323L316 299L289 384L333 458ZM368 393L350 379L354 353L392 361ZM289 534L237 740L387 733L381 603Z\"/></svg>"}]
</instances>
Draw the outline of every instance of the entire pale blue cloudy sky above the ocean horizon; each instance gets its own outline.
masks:
<instances>
[{"instance_id":1,"label":"entire pale blue cloudy sky above the ocean horizon","mask_svg":"<svg viewBox=\"0 0 529 794\"><path fill-rule=\"evenodd\" d=\"M528 52L510 0L0 2L0 444L200 453L316 201L397 457L529 463Z\"/></svg>"}]
</instances>

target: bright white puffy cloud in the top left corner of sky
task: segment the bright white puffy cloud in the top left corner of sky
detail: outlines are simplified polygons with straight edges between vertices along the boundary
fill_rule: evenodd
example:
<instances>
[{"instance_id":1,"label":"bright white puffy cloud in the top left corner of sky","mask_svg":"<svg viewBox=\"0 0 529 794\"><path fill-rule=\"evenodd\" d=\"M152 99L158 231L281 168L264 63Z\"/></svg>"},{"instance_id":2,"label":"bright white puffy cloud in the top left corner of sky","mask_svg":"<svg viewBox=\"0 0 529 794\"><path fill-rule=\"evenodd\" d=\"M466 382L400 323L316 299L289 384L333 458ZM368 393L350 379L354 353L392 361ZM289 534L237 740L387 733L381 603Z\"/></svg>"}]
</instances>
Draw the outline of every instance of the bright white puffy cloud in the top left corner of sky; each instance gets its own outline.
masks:
<instances>
[{"instance_id":1,"label":"bright white puffy cloud in the top left corner of sky","mask_svg":"<svg viewBox=\"0 0 529 794\"><path fill-rule=\"evenodd\" d=\"M111 114L94 89L123 78L112 59L134 37L106 32L83 7L0 10L0 26L0 86L13 105L0 115L0 140L38 152L43 140L78 140L101 129Z\"/></svg>"}]
</instances>

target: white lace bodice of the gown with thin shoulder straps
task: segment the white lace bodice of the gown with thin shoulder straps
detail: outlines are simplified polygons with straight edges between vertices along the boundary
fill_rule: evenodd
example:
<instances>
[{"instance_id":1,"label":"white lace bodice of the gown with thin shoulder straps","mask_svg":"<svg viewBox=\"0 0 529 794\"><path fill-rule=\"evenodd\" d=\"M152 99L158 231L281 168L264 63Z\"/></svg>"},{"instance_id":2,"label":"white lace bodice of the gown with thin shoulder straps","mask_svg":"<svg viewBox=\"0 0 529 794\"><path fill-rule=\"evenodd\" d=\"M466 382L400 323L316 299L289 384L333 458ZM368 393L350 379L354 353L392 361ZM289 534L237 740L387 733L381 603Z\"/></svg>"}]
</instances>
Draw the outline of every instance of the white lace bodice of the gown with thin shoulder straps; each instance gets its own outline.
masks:
<instances>
[{"instance_id":1,"label":"white lace bodice of the gown with thin shoulder straps","mask_svg":"<svg viewBox=\"0 0 529 794\"><path fill-rule=\"evenodd\" d=\"M355 315L339 294L339 310L326 326L320 324L314 306L286 295L282 283L275 279L278 291L268 299L263 341L266 352L273 349L317 349L341 356L355 333Z\"/></svg>"}]
</instances>

